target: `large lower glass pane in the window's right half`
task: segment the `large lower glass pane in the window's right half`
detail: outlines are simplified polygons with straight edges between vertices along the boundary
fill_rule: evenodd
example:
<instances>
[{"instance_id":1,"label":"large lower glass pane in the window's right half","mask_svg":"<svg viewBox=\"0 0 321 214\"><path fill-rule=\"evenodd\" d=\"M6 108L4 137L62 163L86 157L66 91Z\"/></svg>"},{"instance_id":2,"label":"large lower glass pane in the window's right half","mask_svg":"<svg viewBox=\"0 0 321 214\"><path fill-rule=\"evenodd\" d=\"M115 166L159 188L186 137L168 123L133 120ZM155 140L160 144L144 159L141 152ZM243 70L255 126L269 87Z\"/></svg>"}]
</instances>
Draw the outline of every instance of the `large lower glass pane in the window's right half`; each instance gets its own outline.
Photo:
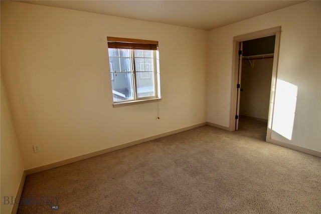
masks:
<instances>
[{"instance_id":1,"label":"large lower glass pane in the window's right half","mask_svg":"<svg viewBox=\"0 0 321 214\"><path fill-rule=\"evenodd\" d=\"M137 72L136 80L138 98L155 96L153 72Z\"/></svg>"}]
</instances>

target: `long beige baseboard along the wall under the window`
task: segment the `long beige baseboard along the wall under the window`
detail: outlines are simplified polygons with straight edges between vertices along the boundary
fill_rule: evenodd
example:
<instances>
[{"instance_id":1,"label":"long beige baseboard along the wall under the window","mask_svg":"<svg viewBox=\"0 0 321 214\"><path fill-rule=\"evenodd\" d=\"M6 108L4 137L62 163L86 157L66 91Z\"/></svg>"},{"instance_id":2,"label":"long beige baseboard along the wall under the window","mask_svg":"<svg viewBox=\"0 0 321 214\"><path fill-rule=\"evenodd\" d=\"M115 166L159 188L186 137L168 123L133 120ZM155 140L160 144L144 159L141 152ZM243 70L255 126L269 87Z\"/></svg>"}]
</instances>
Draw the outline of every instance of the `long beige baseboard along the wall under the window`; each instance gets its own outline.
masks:
<instances>
[{"instance_id":1,"label":"long beige baseboard along the wall under the window","mask_svg":"<svg viewBox=\"0 0 321 214\"><path fill-rule=\"evenodd\" d=\"M90 158L90 157L98 156L98 155L105 154L105 153L108 153L108 152L111 152L111 151L115 151L115 150L118 150L118 149L122 149L122 148L126 148L126 147L129 147L129 146L133 146L133 145L136 145L136 144L139 144L139 143L147 142L147 141L154 140L154 139L161 138L161 137L166 137L166 136L169 136L169 135L172 135L172 134L176 134L176 133L179 133L179 132L187 131L187 130L194 129L194 128L197 128L197 127L200 127L200 126L205 126L206 124L207 123L204 122L204 123L196 124L196 125L193 125L193 126L181 128L181 129L178 129L178 130L166 132L166 133L163 133L163 134L158 134L158 135L147 137L147 138L144 138L144 139L132 141L132 142L129 142L129 143L124 143L124 144L121 144L121 145L118 145L118 146L106 148L106 149L103 149L103 150L99 150L99 151L95 151L95 152L92 152L92 153L80 155L80 156L77 156L77 157L68 158L66 160L61 160L61 161L58 161L58 162L55 162L55 163L50 163L50 164L39 166L39 167L36 167L36 168L27 169L25 172L26 172L26 175L34 174L34 173L37 173L37 172L41 172L41 171L45 171L45 170L48 170L48 169L56 168L56 167L59 167L59 166L63 166L63 165L69 164L69 163L73 163L73 162L76 162L76 161L79 161L79 160L84 160L84 159L87 159L87 158Z\"/></svg>"}]
</instances>

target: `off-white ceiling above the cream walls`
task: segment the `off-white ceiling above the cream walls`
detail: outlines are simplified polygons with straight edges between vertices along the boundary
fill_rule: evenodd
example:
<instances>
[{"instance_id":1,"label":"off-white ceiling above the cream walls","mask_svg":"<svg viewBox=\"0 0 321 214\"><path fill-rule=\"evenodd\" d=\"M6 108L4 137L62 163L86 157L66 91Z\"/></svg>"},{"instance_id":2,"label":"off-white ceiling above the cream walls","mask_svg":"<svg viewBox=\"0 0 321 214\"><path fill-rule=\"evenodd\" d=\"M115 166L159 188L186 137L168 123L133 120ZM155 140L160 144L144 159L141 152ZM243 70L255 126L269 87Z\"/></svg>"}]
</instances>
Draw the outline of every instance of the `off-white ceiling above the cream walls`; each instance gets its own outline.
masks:
<instances>
[{"instance_id":1,"label":"off-white ceiling above the cream walls","mask_svg":"<svg viewBox=\"0 0 321 214\"><path fill-rule=\"evenodd\" d=\"M305 1L18 1L213 30Z\"/></svg>"}]
</instances>

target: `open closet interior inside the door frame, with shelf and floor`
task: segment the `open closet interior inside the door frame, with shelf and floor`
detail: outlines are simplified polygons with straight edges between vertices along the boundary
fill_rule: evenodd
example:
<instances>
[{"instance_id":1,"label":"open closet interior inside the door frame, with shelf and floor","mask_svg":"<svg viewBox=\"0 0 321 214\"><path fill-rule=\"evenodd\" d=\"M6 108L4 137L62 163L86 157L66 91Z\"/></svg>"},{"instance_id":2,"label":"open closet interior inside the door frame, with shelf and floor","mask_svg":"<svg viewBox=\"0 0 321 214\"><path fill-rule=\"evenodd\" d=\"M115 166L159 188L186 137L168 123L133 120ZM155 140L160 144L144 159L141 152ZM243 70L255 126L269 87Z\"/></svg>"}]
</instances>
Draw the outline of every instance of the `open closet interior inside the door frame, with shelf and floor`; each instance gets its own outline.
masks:
<instances>
[{"instance_id":1,"label":"open closet interior inside the door frame, with shelf and floor","mask_svg":"<svg viewBox=\"0 0 321 214\"><path fill-rule=\"evenodd\" d=\"M265 140L275 35L241 42L240 97L236 130L255 131Z\"/></svg>"}]
</instances>

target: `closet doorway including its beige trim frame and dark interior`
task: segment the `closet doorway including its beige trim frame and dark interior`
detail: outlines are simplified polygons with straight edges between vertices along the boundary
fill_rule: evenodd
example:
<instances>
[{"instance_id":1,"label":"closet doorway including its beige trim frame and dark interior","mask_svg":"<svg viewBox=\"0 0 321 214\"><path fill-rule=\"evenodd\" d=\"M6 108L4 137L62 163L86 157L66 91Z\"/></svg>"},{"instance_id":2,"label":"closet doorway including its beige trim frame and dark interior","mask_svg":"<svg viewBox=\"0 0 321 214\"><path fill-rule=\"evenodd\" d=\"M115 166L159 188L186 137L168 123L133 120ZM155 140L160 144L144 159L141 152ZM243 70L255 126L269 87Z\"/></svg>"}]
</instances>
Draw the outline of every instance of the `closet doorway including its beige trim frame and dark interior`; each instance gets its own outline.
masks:
<instances>
[{"instance_id":1,"label":"closet doorway including its beige trim frame and dark interior","mask_svg":"<svg viewBox=\"0 0 321 214\"><path fill-rule=\"evenodd\" d=\"M270 141L280 27L234 37L231 130L242 120L265 123Z\"/></svg>"}]
</instances>

